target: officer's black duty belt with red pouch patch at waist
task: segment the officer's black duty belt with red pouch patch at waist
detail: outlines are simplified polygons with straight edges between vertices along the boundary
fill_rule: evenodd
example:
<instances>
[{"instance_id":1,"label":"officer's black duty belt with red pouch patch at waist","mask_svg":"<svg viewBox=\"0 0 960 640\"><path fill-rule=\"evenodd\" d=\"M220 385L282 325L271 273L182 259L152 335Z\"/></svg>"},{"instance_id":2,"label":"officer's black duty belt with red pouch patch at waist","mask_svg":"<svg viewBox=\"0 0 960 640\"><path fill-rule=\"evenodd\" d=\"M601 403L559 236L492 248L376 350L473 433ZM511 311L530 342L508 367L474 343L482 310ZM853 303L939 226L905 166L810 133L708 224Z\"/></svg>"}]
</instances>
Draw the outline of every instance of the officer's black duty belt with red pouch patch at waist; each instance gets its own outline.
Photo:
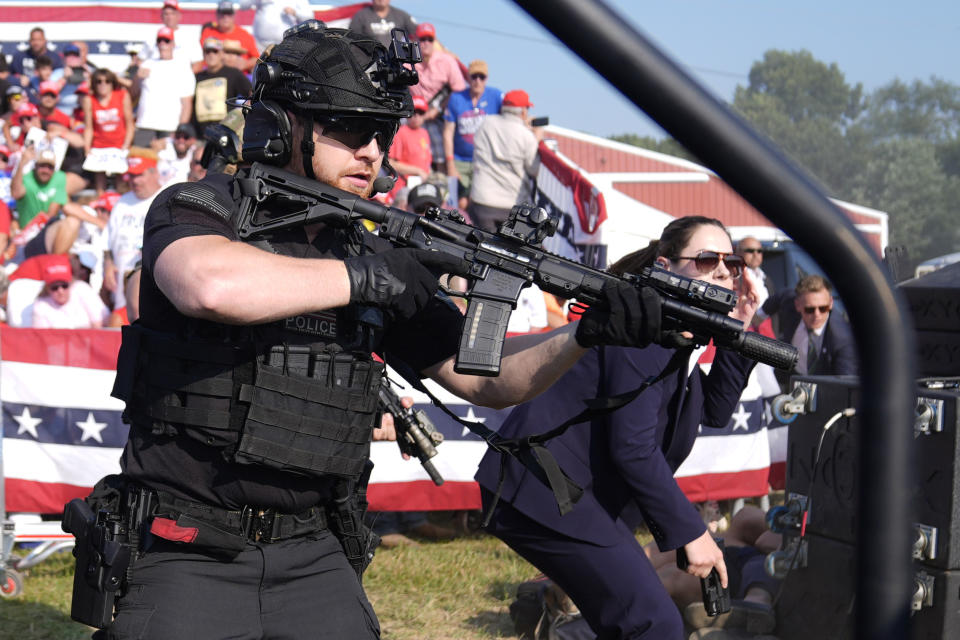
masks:
<instances>
[{"instance_id":1,"label":"officer's black duty belt with red pouch patch at waist","mask_svg":"<svg viewBox=\"0 0 960 640\"><path fill-rule=\"evenodd\" d=\"M300 513L245 506L223 509L181 500L157 491L157 507L150 532L165 540L185 542L224 551L240 551L249 542L271 543L327 528L323 507Z\"/></svg>"}]
</instances>

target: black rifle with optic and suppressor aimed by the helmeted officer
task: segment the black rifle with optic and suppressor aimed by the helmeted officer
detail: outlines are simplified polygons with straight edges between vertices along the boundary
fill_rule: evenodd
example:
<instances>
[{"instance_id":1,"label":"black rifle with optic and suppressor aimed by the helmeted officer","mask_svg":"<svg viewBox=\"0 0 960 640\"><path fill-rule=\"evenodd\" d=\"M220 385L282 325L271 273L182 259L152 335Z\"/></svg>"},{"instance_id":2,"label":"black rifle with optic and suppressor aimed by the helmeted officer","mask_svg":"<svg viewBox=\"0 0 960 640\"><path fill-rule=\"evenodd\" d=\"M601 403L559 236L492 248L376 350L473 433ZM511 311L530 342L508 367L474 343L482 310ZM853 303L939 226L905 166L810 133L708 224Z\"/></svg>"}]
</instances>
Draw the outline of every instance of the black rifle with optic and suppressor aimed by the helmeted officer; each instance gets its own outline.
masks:
<instances>
[{"instance_id":1,"label":"black rifle with optic and suppressor aimed by the helmeted officer","mask_svg":"<svg viewBox=\"0 0 960 640\"><path fill-rule=\"evenodd\" d=\"M242 175L240 175L242 174ZM724 287L686 278L657 267L615 276L539 248L553 234L557 219L539 207L518 205L497 232L468 225L456 211L431 207L424 215L365 200L356 194L309 180L276 167L253 163L240 172L239 212L234 226L241 239L293 226L325 223L343 227L367 219L380 237L400 247L441 251L464 261L468 300L454 370L496 376L510 313L520 290L535 283L547 293L603 304L604 285L627 280L661 294L661 326L688 331L694 341L736 351L779 369L797 361L796 347L744 329L727 314L737 295Z\"/></svg>"}]
</instances>

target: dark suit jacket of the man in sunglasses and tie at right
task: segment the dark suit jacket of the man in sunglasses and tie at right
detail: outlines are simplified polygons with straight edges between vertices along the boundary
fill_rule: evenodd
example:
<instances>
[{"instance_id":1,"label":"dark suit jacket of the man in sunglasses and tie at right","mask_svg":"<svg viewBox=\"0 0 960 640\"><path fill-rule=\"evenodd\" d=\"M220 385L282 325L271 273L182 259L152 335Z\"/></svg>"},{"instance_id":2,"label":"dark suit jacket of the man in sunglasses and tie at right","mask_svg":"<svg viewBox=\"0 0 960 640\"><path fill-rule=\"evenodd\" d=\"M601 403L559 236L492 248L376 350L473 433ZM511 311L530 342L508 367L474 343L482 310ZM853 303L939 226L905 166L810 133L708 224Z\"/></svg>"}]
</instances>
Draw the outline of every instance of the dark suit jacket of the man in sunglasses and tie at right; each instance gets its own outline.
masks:
<instances>
[{"instance_id":1,"label":"dark suit jacket of the man in sunglasses and tie at right","mask_svg":"<svg viewBox=\"0 0 960 640\"><path fill-rule=\"evenodd\" d=\"M767 315L776 314L779 318L780 333L778 337L784 342L791 342L797 327L803 321L797 313L793 300L796 294L789 290L778 291L763 303L763 311ZM801 358L807 354L801 353ZM824 329L823 341L820 344L820 355L816 365L809 375L842 376L857 375L857 346L853 339L853 329L843 314L832 311Z\"/></svg>"}]
</instances>

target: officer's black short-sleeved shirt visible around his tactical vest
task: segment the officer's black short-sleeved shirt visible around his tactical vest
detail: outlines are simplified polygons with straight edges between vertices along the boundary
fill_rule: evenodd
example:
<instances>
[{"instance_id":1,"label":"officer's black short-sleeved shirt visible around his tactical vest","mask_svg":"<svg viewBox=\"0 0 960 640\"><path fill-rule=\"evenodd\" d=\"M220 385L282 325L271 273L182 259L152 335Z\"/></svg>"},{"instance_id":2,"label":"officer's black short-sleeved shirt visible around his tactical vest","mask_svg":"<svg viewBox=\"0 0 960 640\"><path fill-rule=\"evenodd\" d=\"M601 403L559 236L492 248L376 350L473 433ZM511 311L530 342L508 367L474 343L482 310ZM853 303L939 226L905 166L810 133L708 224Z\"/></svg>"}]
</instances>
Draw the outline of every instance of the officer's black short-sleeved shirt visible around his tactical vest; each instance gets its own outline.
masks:
<instances>
[{"instance_id":1,"label":"officer's black short-sleeved shirt visible around his tactical vest","mask_svg":"<svg viewBox=\"0 0 960 640\"><path fill-rule=\"evenodd\" d=\"M222 174L208 176L204 182L221 193L229 193L232 178ZM230 240L237 236L230 223L212 213L170 207L168 200L177 189L165 190L154 201L144 224L143 271L140 281L140 322L150 329L177 333L188 319L163 295L153 277L160 253L180 238L220 235ZM324 229L312 244L302 228L293 228L269 237L281 254L301 258L343 258L344 232ZM390 248L385 240L363 233L366 250ZM383 339L375 351L387 354L387 361L403 360L414 370L423 369L450 357L459 343L462 316L447 302L435 299L410 321L387 322ZM299 512L329 497L331 481L254 465L227 462L220 449L206 446L186 436L154 435L149 426L131 425L130 437L121 458L124 472L156 489L188 500L237 509L244 505L274 507Z\"/></svg>"}]
</instances>

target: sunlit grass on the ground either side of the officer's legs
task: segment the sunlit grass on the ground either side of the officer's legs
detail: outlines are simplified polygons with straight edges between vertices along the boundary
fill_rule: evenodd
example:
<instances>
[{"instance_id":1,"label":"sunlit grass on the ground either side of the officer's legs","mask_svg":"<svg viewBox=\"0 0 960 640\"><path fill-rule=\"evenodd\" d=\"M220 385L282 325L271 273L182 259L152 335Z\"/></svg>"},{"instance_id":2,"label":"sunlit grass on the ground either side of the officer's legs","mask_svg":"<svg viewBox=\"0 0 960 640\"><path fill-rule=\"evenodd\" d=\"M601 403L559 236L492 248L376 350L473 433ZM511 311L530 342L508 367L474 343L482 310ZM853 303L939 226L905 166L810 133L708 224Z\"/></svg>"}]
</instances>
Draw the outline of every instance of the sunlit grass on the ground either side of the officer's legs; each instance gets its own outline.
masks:
<instances>
[{"instance_id":1,"label":"sunlit grass on the ground either side of the officer's legs","mask_svg":"<svg viewBox=\"0 0 960 640\"><path fill-rule=\"evenodd\" d=\"M515 638L507 607L517 584L537 571L499 540L381 549L364 586L388 640ZM73 556L58 554L27 572L23 595L0 600L0 639L79 640L91 630L70 620Z\"/></svg>"}]
</instances>

